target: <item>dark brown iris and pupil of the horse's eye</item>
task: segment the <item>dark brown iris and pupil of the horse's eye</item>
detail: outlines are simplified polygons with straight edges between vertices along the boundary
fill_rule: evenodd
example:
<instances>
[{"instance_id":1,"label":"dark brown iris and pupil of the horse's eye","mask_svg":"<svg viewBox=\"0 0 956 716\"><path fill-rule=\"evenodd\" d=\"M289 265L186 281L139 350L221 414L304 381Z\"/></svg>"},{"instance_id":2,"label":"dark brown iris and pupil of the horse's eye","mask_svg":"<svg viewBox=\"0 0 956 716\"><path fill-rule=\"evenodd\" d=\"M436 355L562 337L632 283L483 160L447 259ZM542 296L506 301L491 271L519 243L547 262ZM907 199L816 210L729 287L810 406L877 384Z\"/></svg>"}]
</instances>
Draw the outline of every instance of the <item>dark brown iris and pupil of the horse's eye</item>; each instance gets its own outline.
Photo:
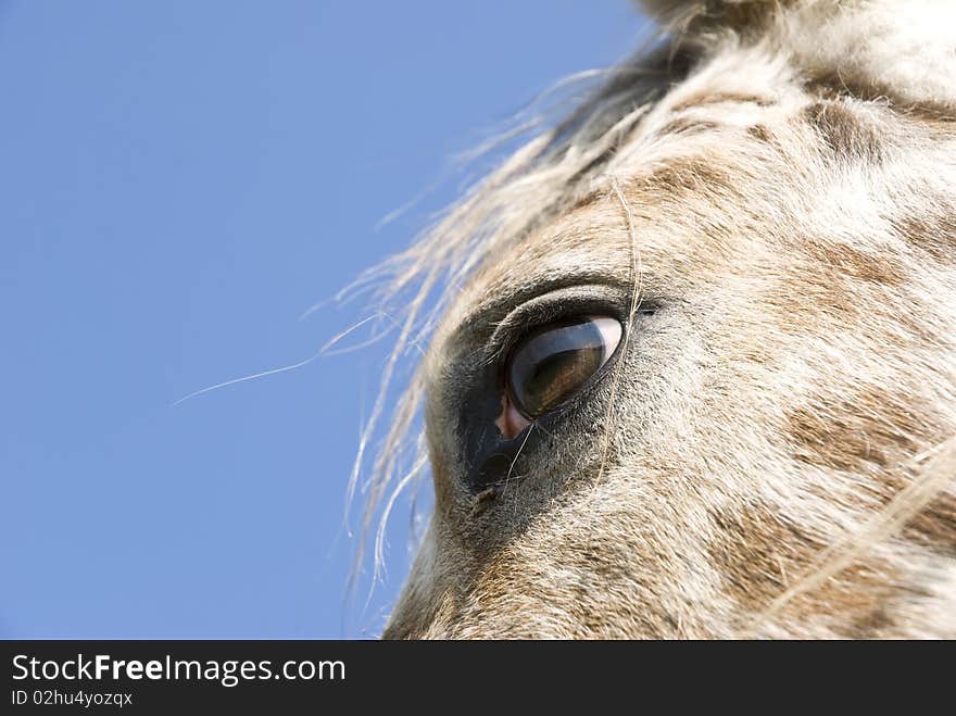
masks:
<instances>
[{"instance_id":1,"label":"dark brown iris and pupil of the horse's eye","mask_svg":"<svg viewBox=\"0 0 956 716\"><path fill-rule=\"evenodd\" d=\"M539 417L564 402L604 362L604 337L589 318L551 325L512 354L508 388L518 410Z\"/></svg>"}]
</instances>

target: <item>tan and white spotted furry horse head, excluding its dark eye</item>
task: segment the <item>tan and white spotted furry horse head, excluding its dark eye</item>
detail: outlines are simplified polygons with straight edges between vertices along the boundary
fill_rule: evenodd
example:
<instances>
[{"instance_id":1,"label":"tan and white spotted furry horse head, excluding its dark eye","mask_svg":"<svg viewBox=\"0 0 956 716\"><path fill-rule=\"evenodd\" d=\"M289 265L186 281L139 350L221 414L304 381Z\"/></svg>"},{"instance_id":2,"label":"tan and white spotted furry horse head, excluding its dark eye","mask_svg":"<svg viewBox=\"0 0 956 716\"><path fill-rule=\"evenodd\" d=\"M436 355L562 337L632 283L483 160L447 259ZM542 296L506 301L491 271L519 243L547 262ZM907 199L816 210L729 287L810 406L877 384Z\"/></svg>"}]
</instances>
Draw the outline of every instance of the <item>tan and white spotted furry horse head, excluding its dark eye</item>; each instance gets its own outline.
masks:
<instances>
[{"instance_id":1,"label":"tan and white spotted furry horse head, excluding its dark eye","mask_svg":"<svg viewBox=\"0 0 956 716\"><path fill-rule=\"evenodd\" d=\"M386 636L956 637L956 3L647 4L663 49L393 264L399 350L452 290L373 481L424 404ZM464 386L550 290L628 342L476 494Z\"/></svg>"}]
</instances>

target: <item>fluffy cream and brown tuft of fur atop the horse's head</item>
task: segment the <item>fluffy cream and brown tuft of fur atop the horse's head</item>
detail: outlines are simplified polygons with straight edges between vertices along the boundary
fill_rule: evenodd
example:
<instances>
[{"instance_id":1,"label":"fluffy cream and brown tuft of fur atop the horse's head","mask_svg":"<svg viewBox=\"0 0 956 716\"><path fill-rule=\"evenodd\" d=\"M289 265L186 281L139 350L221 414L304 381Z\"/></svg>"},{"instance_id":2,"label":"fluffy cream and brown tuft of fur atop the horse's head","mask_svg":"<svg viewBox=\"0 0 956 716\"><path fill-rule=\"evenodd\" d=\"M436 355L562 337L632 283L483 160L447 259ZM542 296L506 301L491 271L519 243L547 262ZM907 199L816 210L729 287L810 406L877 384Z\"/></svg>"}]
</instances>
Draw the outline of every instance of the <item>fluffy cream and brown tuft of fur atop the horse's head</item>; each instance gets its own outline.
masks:
<instances>
[{"instance_id":1,"label":"fluffy cream and brown tuft of fur atop the horse's head","mask_svg":"<svg viewBox=\"0 0 956 716\"><path fill-rule=\"evenodd\" d=\"M706 53L728 37L762 43L808 78L956 114L954 0L637 0Z\"/></svg>"}]
</instances>

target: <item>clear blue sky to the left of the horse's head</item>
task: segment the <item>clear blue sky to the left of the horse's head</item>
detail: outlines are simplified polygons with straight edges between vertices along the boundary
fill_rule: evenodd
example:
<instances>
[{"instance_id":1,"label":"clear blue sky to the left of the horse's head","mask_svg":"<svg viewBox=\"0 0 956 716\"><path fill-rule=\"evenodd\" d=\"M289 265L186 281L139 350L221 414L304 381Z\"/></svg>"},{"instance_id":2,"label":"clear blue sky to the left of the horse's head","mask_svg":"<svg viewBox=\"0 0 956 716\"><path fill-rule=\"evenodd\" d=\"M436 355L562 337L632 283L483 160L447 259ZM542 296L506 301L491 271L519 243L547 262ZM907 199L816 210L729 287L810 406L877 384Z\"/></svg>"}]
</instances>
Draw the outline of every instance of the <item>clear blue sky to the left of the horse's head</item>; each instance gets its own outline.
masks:
<instances>
[{"instance_id":1,"label":"clear blue sky to the left of the horse's head","mask_svg":"<svg viewBox=\"0 0 956 716\"><path fill-rule=\"evenodd\" d=\"M302 318L640 26L626 0L0 0L0 636L376 636L408 520L366 606L342 518L387 346L173 403L367 315Z\"/></svg>"}]
</instances>

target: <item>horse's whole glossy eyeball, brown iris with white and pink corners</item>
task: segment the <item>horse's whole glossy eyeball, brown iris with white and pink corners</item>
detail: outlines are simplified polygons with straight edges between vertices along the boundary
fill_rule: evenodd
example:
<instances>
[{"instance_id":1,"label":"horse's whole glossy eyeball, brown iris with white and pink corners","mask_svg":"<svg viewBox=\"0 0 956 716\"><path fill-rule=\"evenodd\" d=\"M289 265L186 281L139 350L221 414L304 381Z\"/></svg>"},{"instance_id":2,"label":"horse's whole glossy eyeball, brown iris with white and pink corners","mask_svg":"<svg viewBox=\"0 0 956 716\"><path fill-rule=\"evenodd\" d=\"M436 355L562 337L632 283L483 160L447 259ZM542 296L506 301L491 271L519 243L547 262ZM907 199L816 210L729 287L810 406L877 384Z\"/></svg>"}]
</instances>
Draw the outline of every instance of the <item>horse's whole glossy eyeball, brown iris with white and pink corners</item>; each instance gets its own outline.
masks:
<instances>
[{"instance_id":1,"label":"horse's whole glossy eyeball, brown iris with white and pink corners","mask_svg":"<svg viewBox=\"0 0 956 716\"><path fill-rule=\"evenodd\" d=\"M593 376L620 342L621 326L607 316L577 316L548 324L525 337L505 367L507 436L557 407ZM511 403L508 405L507 403ZM512 436L513 437L513 436Z\"/></svg>"}]
</instances>

